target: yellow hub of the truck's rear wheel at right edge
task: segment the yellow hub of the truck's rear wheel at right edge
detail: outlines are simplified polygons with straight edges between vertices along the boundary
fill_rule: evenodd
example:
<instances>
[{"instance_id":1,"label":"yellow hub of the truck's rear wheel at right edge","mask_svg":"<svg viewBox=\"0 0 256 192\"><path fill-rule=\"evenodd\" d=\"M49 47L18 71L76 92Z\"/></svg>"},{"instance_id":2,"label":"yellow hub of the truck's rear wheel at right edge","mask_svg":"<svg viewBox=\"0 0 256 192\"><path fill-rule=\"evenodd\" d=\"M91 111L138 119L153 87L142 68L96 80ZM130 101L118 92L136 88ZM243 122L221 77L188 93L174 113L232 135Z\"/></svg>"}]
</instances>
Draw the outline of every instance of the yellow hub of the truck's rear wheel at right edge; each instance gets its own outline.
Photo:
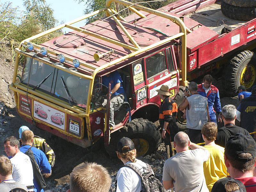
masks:
<instances>
[{"instance_id":1,"label":"yellow hub of the truck's rear wheel at right edge","mask_svg":"<svg viewBox=\"0 0 256 192\"><path fill-rule=\"evenodd\" d=\"M246 89L252 87L256 78L256 70L253 65L247 65L243 68L240 75L240 84L244 85Z\"/></svg>"}]
</instances>

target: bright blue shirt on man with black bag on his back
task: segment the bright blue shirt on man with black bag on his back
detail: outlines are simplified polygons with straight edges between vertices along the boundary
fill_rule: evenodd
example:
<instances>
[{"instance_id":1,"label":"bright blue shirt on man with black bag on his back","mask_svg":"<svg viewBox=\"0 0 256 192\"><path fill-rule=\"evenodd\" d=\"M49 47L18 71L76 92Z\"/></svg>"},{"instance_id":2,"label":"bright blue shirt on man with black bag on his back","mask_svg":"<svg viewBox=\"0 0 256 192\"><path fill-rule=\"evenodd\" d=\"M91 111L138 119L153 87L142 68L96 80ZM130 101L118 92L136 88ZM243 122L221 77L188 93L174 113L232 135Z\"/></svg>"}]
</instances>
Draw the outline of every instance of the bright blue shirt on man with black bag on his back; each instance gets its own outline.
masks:
<instances>
[{"instance_id":1,"label":"bright blue shirt on man with black bag on his back","mask_svg":"<svg viewBox=\"0 0 256 192\"><path fill-rule=\"evenodd\" d=\"M21 148L20 148L20 151L22 153L25 153L30 147L31 147L30 145L22 145ZM44 152L35 148L35 147L32 147L31 151L34 153L36 163L38 164L39 169L41 170L41 172L50 173L52 167L49 164L48 159L45 156ZM35 178L34 178L33 182L34 182L34 185L35 185L35 188L36 188L37 192L44 192L44 189L40 189L38 187L38 184L37 184Z\"/></svg>"}]
</instances>

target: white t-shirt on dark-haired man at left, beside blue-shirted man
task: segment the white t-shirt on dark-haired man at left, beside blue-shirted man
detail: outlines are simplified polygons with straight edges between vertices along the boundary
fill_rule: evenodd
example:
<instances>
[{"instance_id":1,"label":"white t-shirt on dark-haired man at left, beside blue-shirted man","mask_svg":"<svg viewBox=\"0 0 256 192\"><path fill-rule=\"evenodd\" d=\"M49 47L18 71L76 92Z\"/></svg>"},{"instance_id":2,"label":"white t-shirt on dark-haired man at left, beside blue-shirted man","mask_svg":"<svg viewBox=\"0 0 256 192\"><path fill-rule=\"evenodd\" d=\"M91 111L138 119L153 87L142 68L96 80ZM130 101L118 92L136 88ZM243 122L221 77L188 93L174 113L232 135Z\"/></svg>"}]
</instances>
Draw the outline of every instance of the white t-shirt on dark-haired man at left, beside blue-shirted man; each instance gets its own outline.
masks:
<instances>
[{"instance_id":1,"label":"white t-shirt on dark-haired man at left, beside blue-shirted man","mask_svg":"<svg viewBox=\"0 0 256 192\"><path fill-rule=\"evenodd\" d=\"M19 151L10 161L12 163L13 180L25 186L34 185L33 167L29 156Z\"/></svg>"}]
</instances>

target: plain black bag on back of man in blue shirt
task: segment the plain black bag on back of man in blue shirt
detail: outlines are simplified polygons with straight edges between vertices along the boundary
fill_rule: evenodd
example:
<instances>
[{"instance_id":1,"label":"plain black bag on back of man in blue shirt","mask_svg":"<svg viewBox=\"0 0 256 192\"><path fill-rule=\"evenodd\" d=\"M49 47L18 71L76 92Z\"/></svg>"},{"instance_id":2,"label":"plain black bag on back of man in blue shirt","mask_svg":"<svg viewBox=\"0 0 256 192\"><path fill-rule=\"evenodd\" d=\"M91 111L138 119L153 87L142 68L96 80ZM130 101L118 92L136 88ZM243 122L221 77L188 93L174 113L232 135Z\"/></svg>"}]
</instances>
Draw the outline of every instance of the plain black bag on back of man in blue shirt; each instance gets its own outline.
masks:
<instances>
[{"instance_id":1,"label":"plain black bag on back of man in blue shirt","mask_svg":"<svg viewBox=\"0 0 256 192\"><path fill-rule=\"evenodd\" d=\"M41 170L40 170L38 164L36 163L36 159L35 159L33 151L31 150L31 147L25 152L25 154L27 156L29 156L29 158L30 158L30 161L31 161L31 164L32 164L32 167L33 167L34 179L36 179L36 182L37 182L39 188L40 189L45 188L46 183L44 181Z\"/></svg>"}]
</instances>

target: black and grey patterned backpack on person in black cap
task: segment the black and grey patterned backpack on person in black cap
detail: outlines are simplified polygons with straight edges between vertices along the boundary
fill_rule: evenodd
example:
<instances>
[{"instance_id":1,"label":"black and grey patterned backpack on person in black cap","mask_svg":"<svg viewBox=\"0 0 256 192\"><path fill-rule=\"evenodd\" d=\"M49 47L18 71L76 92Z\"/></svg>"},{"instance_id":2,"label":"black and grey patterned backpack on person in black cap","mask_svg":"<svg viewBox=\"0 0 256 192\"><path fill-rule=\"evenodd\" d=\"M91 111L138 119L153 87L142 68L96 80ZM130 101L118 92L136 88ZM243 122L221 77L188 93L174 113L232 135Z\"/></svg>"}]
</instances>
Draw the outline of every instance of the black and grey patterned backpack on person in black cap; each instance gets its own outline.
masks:
<instances>
[{"instance_id":1,"label":"black and grey patterned backpack on person in black cap","mask_svg":"<svg viewBox=\"0 0 256 192\"><path fill-rule=\"evenodd\" d=\"M155 177L154 172L149 164L146 163L146 167L143 167L143 173L140 169L133 164L125 164L122 167L130 167L133 171L138 173L141 177L141 192L165 192L162 183ZM115 187L117 187L117 178Z\"/></svg>"}]
</instances>

